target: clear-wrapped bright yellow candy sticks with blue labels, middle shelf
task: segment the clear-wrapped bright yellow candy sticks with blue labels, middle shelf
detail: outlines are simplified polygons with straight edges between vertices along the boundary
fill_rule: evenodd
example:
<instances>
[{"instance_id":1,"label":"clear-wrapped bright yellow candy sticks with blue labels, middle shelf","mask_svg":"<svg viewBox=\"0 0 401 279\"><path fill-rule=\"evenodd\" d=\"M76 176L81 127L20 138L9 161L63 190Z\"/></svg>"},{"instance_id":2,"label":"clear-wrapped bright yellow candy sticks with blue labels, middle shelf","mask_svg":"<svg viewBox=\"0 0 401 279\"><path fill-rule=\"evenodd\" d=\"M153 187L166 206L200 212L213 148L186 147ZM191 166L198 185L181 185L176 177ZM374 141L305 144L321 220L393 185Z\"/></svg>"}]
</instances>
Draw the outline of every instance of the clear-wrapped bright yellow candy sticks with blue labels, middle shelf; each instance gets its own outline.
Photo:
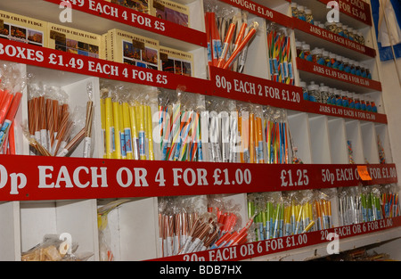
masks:
<instances>
[{"instance_id":1,"label":"clear-wrapped bright yellow candy sticks with blue labels, middle shelf","mask_svg":"<svg viewBox=\"0 0 401 279\"><path fill-rule=\"evenodd\" d=\"M155 160L157 94L158 89L152 86L102 80L104 158Z\"/></svg>"}]
</instances>

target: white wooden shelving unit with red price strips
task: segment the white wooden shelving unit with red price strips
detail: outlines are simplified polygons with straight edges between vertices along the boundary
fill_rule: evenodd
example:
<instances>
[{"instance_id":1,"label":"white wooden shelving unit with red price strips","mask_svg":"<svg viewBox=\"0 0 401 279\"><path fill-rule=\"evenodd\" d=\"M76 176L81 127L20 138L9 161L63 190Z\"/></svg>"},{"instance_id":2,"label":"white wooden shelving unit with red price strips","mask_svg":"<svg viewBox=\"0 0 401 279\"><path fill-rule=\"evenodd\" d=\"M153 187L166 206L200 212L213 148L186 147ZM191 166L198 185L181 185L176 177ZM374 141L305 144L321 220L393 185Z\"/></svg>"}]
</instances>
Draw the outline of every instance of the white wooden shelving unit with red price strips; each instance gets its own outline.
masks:
<instances>
[{"instance_id":1,"label":"white wooden shelving unit with red price strips","mask_svg":"<svg viewBox=\"0 0 401 279\"><path fill-rule=\"evenodd\" d=\"M344 238L341 240L341 250L401 236L398 228L401 225L400 217L351 226L338 226L338 217L334 217L337 221L328 230L170 258L159 258L158 253L158 197L225 194L225 199L241 205L241 217L248 220L247 193L397 184L397 169L391 155L369 4L364 3L359 9L347 4L354 13L347 12L345 5L340 8L341 20L344 17L349 25L363 30L366 45L360 45L340 40L336 36L331 37L323 29L312 28L303 21L291 18L290 1L274 0L265 4L265 1L221 0L222 3L250 12L250 20L258 21L261 26L258 36L250 45L245 70L240 74L215 67L208 73L202 0L177 1L190 8L192 21L189 28L102 0L70 2L73 21L66 25L96 34L118 28L157 38L166 46L194 55L194 77L4 39L0 39L0 59L19 63L24 72L33 74L45 84L61 86L70 95L74 105L86 103L88 83L94 86L94 103L100 103L100 83L108 79L115 84L135 83L166 90L185 86L185 91L200 96L282 108L286 111L299 157L305 164L102 159L101 112L97 106L94 112L95 142L91 159L79 158L82 154L81 145L72 153L71 158L29 156L29 144L17 129L16 138L21 146L19 155L0 155L0 219L12 224L0 229L0 259L20 260L21 252L41 242L45 234L68 232L79 243L79 250L93 252L90 260L99 260L97 209L108 201L120 198L128 198L129 201L112 210L109 215L112 249L116 260L305 260L327 255L325 248L330 240L326 236L329 233L337 233L341 239ZM308 0L305 4L314 11L325 11L326 2ZM32 8L33 4L35 9ZM2 3L0 9L57 22L61 11L59 4L55 0L18 0ZM315 14L317 16L319 12ZM299 58L294 61L295 86L269 80L266 21L274 21L289 29L293 53L295 38L333 51L340 48L344 55L371 66L372 80L344 76L340 71L316 67ZM299 78L344 89L352 88L357 94L371 94L379 112L356 111L305 101L302 88L299 87ZM27 103L25 90L16 117L18 125L28 119ZM377 135L381 136L387 155L386 164L380 164ZM348 139L356 143L356 164L348 163ZM367 170L372 180L362 180L359 167ZM226 170L227 176L221 175L223 170ZM297 174L293 176L292 185L288 184L292 179L290 172ZM238 173L241 173L243 179L238 178ZM12 174L25 176L28 183L23 185L20 180L12 179ZM133 178L131 182L125 180L129 175ZM61 176L63 182L59 185L58 179ZM67 176L72 179L70 184ZM269 177L268 183L266 176ZM163 183L161 177L165 179ZM336 204L336 201L333 202Z\"/></svg>"}]
</instances>

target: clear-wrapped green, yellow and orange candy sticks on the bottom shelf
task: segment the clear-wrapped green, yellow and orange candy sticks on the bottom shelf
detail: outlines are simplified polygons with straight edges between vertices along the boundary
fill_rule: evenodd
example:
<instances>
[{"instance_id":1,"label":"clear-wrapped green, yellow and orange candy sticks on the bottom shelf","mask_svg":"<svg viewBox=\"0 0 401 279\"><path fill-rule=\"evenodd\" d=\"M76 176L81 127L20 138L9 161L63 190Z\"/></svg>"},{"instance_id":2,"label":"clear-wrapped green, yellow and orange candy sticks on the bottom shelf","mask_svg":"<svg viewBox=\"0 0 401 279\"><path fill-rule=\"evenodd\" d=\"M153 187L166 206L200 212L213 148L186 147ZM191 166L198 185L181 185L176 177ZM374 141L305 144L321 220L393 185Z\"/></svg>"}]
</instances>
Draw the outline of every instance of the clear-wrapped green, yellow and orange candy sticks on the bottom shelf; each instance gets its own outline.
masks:
<instances>
[{"instance_id":1,"label":"clear-wrapped green, yellow and orange candy sticks on the bottom shelf","mask_svg":"<svg viewBox=\"0 0 401 279\"><path fill-rule=\"evenodd\" d=\"M250 241L305 234L332 227L329 190L248 194L248 215L254 217Z\"/></svg>"}]
</instances>

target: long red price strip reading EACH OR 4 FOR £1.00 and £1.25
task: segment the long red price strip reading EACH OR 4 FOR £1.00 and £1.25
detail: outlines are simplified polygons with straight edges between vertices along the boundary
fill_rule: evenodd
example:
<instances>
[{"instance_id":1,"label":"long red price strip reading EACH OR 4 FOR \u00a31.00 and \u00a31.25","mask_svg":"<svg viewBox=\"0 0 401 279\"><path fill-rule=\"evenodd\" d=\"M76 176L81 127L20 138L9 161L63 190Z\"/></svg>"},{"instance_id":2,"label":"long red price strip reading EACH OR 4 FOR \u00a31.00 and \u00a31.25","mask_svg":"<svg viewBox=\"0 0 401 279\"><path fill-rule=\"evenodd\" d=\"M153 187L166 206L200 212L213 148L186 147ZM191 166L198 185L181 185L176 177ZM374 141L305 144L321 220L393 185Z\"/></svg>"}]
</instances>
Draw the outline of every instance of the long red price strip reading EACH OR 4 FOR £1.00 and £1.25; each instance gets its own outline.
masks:
<instances>
[{"instance_id":1,"label":"long red price strip reading EACH OR 4 FOR \u00a31.00 and \u00a31.25","mask_svg":"<svg viewBox=\"0 0 401 279\"><path fill-rule=\"evenodd\" d=\"M394 164L237 164L10 156L0 160L0 201L257 193L397 183ZM20 169L20 161L26 168ZM266 180L266 177L268 179Z\"/></svg>"}]
</instances>

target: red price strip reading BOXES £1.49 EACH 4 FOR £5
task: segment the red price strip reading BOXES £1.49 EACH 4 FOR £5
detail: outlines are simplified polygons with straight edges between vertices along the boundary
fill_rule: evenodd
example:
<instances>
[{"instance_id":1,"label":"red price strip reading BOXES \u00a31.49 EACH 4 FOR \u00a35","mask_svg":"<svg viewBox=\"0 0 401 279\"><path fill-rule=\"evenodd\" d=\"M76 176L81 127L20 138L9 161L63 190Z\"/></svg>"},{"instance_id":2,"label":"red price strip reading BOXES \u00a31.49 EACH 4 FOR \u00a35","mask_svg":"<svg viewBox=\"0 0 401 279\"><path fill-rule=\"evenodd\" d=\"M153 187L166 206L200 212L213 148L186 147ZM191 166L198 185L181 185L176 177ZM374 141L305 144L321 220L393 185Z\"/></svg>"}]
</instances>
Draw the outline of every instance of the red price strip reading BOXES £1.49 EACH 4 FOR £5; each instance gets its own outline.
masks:
<instances>
[{"instance_id":1,"label":"red price strip reading BOXES \u00a31.49 EACH 4 FOR \u00a35","mask_svg":"<svg viewBox=\"0 0 401 279\"><path fill-rule=\"evenodd\" d=\"M192 93L204 93L209 90L209 81L201 78L184 77L5 39L0 39L0 59L169 89L176 89L177 86L185 84L187 91Z\"/></svg>"}]
</instances>

